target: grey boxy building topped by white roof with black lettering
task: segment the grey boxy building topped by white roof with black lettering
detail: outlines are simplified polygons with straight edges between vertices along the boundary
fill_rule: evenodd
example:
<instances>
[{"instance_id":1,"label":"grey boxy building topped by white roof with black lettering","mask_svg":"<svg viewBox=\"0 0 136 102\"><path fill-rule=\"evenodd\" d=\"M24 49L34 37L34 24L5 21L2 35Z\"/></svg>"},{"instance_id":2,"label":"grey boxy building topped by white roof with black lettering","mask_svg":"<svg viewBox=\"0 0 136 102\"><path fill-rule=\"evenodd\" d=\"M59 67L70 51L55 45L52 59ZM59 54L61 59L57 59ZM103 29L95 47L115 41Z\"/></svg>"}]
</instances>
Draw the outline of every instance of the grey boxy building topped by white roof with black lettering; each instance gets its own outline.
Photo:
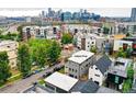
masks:
<instances>
[{"instance_id":1,"label":"grey boxy building topped by white roof with black lettering","mask_svg":"<svg viewBox=\"0 0 136 102\"><path fill-rule=\"evenodd\" d=\"M88 75L89 67L95 63L95 55L90 52L79 50L75 53L65 66L65 71L70 77L80 79Z\"/></svg>"}]
</instances>

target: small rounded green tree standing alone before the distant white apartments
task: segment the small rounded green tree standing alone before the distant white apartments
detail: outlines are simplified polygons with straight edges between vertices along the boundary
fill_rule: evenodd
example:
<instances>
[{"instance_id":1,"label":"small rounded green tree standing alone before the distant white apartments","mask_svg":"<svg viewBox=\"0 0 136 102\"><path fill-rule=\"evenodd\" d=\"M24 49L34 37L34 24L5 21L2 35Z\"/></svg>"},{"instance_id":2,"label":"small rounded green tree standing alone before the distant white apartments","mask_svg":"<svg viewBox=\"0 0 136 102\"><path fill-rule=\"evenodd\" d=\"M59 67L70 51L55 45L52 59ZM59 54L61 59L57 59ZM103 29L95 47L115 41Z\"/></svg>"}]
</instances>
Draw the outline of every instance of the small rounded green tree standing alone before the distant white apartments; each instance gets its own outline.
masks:
<instances>
[{"instance_id":1,"label":"small rounded green tree standing alone before the distant white apartments","mask_svg":"<svg viewBox=\"0 0 136 102\"><path fill-rule=\"evenodd\" d=\"M63 34L61 44L70 44L72 43L72 35L71 34Z\"/></svg>"}]
</instances>

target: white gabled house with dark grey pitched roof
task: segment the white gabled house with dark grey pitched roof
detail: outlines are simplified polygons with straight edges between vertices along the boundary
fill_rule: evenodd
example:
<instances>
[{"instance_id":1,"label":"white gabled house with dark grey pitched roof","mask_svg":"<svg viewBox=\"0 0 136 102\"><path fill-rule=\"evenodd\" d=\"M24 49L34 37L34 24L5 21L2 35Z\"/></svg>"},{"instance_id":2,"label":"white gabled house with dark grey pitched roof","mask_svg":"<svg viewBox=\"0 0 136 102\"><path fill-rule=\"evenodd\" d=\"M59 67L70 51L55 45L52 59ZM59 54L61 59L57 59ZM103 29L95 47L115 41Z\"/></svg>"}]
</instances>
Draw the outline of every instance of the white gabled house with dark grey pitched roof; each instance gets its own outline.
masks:
<instances>
[{"instance_id":1,"label":"white gabled house with dark grey pitched roof","mask_svg":"<svg viewBox=\"0 0 136 102\"><path fill-rule=\"evenodd\" d=\"M102 86L111 64L112 60L106 55L102 56L89 68L89 79Z\"/></svg>"}]
</instances>

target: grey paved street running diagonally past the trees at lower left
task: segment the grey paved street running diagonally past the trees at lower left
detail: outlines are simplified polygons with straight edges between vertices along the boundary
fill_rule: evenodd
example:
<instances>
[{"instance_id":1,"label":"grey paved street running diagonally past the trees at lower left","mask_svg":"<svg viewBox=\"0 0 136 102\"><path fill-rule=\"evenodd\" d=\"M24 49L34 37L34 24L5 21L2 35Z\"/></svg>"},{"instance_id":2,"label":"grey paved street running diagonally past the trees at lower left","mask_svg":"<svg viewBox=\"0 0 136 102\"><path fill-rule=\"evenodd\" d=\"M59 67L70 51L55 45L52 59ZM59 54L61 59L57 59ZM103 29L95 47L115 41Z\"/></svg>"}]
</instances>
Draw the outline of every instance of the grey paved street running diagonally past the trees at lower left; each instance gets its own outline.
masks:
<instances>
[{"instance_id":1,"label":"grey paved street running diagonally past the trees at lower left","mask_svg":"<svg viewBox=\"0 0 136 102\"><path fill-rule=\"evenodd\" d=\"M50 67L50 68L48 68L45 71L42 71L39 73L33 75L30 78L19 80L9 87L0 89L0 93L19 93L19 92L22 92L23 90L31 87L33 82L37 81L37 79L41 78L45 72L53 71L53 69L55 67L59 67L59 66L61 66L61 64L58 64L54 67Z\"/></svg>"}]
</instances>

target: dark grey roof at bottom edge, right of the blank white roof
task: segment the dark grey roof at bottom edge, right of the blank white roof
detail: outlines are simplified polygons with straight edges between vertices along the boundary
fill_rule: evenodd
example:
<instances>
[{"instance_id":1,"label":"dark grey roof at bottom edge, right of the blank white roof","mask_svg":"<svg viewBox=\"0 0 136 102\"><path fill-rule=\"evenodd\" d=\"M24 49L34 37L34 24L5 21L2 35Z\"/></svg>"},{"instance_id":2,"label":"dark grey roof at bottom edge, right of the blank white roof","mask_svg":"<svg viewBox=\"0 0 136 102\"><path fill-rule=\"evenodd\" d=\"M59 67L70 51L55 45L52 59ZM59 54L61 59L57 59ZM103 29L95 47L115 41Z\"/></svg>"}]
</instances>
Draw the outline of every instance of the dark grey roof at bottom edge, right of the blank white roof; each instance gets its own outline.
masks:
<instances>
[{"instance_id":1,"label":"dark grey roof at bottom edge, right of the blank white roof","mask_svg":"<svg viewBox=\"0 0 136 102\"><path fill-rule=\"evenodd\" d=\"M81 93L95 93L99 88L99 84L97 84L90 79L79 91Z\"/></svg>"}]
</instances>

